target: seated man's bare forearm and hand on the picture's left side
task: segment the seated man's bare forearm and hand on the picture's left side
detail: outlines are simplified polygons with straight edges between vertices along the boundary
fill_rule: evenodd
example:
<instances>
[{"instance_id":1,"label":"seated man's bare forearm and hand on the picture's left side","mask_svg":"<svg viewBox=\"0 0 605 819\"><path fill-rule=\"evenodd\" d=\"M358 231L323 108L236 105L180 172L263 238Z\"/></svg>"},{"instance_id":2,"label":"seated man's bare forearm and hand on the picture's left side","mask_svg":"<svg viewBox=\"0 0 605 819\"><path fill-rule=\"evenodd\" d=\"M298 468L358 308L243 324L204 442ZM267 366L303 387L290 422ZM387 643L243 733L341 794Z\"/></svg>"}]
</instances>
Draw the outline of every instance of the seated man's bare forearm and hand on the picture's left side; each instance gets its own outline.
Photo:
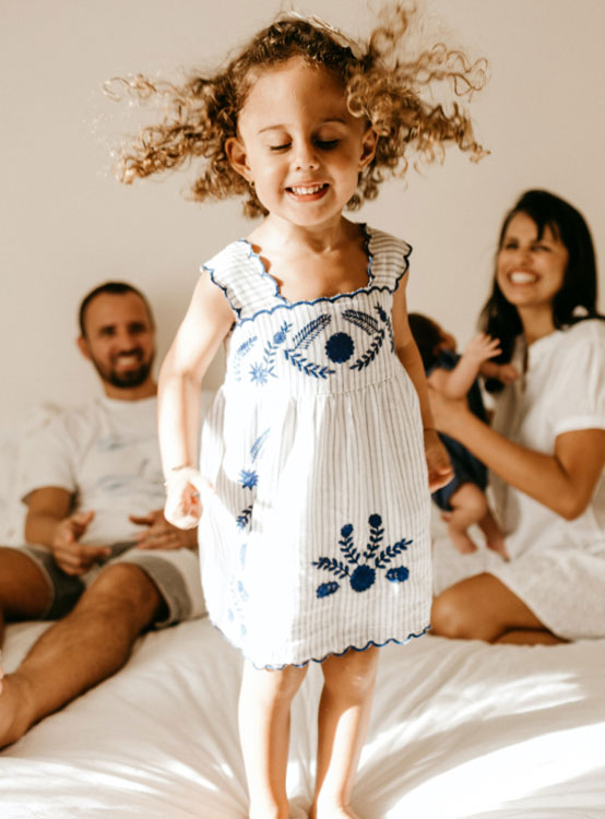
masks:
<instances>
[{"instance_id":1,"label":"seated man's bare forearm and hand on the picture's left side","mask_svg":"<svg viewBox=\"0 0 605 819\"><path fill-rule=\"evenodd\" d=\"M109 555L110 549L105 546L80 543L94 512L70 514L72 496L67 489L58 486L34 489L25 498L25 503L26 542L48 547L67 574L82 574L96 560Z\"/></svg>"}]
</instances>

